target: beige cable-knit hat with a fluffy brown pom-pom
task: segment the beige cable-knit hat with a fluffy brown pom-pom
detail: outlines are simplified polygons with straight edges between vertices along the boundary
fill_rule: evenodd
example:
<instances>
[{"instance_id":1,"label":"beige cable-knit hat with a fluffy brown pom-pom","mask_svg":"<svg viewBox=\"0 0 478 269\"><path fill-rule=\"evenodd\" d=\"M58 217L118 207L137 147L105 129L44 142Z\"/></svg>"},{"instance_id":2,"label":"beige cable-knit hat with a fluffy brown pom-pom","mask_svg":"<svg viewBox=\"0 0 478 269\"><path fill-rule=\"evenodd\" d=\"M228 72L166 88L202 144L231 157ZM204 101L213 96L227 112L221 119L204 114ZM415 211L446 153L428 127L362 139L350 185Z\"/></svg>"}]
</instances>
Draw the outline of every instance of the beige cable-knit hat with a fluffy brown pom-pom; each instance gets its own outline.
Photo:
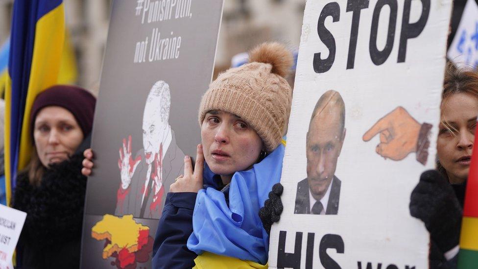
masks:
<instances>
[{"instance_id":1,"label":"beige cable-knit hat with a fluffy brown pom-pom","mask_svg":"<svg viewBox=\"0 0 478 269\"><path fill-rule=\"evenodd\" d=\"M249 123L265 150L281 143L290 113L292 89L284 78L292 54L279 43L263 43L249 52L249 63L219 74L199 106L199 124L211 110L222 110Z\"/></svg>"}]
</instances>

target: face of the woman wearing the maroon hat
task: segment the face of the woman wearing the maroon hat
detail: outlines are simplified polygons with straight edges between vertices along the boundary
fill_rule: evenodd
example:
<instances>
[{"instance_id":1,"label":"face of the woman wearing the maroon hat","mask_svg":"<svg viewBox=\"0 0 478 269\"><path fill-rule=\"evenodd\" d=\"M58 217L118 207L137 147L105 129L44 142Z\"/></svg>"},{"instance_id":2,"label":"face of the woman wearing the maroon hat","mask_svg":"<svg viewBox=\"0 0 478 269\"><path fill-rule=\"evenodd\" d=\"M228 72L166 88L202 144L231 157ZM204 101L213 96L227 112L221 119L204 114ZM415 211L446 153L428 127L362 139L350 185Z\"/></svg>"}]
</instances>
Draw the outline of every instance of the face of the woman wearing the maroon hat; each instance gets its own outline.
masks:
<instances>
[{"instance_id":1,"label":"face of the woman wearing the maroon hat","mask_svg":"<svg viewBox=\"0 0 478 269\"><path fill-rule=\"evenodd\" d=\"M33 138L40 161L48 167L68 159L83 141L83 132L70 111L48 106L37 114Z\"/></svg>"}]
</instances>

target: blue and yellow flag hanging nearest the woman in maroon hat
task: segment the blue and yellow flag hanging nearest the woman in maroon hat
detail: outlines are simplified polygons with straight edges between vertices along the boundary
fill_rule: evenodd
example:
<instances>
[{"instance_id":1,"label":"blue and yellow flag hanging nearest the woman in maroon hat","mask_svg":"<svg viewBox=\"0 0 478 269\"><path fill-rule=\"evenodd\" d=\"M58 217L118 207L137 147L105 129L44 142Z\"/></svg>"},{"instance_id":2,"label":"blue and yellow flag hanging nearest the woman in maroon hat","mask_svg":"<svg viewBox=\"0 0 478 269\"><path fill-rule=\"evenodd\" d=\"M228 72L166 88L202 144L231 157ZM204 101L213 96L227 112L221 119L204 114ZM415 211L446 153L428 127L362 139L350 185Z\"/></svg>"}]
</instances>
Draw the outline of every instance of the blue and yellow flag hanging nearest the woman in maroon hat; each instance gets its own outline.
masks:
<instances>
[{"instance_id":1,"label":"blue and yellow flag hanging nearest the woman in maroon hat","mask_svg":"<svg viewBox=\"0 0 478 269\"><path fill-rule=\"evenodd\" d=\"M5 87L7 204L17 171L30 160L31 105L40 92L58 82L65 32L62 0L14 1Z\"/></svg>"}]
</instances>

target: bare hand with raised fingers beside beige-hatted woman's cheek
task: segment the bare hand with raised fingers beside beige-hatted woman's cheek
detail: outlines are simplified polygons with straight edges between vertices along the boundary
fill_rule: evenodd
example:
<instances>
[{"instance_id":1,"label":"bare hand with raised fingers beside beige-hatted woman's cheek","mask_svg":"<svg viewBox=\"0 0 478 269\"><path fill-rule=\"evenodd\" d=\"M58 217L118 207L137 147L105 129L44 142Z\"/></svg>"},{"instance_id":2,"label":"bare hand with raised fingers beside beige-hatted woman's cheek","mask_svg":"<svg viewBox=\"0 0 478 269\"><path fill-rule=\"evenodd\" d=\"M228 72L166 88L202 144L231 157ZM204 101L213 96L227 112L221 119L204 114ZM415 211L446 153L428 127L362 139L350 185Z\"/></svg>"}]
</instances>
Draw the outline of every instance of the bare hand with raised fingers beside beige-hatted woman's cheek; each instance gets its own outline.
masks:
<instances>
[{"instance_id":1,"label":"bare hand with raised fingers beside beige-hatted woman's cheek","mask_svg":"<svg viewBox=\"0 0 478 269\"><path fill-rule=\"evenodd\" d=\"M184 175L179 176L176 182L171 184L169 192L171 193L197 193L203 188L202 172L204 169L204 154L202 145L197 145L196 163L192 171L191 157L184 157Z\"/></svg>"}]
</instances>

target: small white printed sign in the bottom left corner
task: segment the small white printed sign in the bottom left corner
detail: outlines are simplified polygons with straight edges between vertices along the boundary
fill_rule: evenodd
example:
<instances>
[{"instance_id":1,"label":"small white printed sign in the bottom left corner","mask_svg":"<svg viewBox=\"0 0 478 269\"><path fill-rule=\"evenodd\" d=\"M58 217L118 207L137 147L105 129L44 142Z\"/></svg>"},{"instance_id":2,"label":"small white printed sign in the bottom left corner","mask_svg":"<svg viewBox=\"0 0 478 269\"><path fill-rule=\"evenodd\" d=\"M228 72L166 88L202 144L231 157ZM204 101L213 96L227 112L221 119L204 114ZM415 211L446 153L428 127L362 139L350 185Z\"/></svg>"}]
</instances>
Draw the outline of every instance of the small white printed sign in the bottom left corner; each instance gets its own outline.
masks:
<instances>
[{"instance_id":1,"label":"small white printed sign in the bottom left corner","mask_svg":"<svg viewBox=\"0 0 478 269\"><path fill-rule=\"evenodd\" d=\"M0 204L0 269L11 268L26 213Z\"/></svg>"}]
</instances>

